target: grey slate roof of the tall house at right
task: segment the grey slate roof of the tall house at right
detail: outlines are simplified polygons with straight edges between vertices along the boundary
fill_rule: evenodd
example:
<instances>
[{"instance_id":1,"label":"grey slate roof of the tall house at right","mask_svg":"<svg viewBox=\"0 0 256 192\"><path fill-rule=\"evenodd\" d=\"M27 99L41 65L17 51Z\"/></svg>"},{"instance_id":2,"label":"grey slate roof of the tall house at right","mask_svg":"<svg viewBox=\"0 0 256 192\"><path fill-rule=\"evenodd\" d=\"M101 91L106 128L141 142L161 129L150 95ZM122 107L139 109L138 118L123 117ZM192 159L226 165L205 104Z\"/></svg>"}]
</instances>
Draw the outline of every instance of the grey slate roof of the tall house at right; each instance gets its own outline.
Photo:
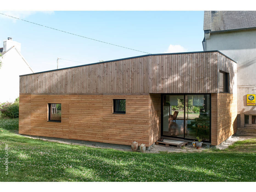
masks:
<instances>
[{"instance_id":1,"label":"grey slate roof of the tall house at right","mask_svg":"<svg viewBox=\"0 0 256 192\"><path fill-rule=\"evenodd\" d=\"M204 11L204 30L256 29L256 11Z\"/></svg>"}]
</instances>

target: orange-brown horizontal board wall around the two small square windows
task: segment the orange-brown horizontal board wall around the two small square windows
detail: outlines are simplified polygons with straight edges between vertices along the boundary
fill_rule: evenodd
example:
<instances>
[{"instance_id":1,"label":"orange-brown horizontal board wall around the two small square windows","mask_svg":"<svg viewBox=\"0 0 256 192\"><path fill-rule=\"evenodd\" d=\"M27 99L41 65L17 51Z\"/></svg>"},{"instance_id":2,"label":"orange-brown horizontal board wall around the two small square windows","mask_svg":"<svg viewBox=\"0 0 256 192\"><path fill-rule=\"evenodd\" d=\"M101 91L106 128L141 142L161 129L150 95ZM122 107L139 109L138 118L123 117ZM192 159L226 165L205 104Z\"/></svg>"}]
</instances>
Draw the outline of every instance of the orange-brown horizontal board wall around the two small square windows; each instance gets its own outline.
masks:
<instances>
[{"instance_id":1,"label":"orange-brown horizontal board wall around the two small square windows","mask_svg":"<svg viewBox=\"0 0 256 192\"><path fill-rule=\"evenodd\" d=\"M112 100L126 100L113 114ZM61 122L47 122L47 103L61 103ZM19 133L130 145L149 145L149 95L20 94Z\"/></svg>"}]
</instances>

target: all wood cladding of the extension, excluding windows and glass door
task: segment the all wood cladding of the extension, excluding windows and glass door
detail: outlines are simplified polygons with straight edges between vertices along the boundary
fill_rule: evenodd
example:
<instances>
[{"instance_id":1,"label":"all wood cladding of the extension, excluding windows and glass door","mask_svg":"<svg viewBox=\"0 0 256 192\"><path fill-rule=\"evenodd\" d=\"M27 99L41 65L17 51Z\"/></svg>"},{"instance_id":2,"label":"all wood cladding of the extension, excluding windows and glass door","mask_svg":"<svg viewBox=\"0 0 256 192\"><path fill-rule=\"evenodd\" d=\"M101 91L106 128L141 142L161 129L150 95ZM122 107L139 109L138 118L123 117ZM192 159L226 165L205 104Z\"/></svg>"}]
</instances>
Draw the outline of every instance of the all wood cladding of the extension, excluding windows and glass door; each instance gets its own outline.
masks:
<instances>
[{"instance_id":1,"label":"all wood cladding of the extension, excluding windows and glass door","mask_svg":"<svg viewBox=\"0 0 256 192\"><path fill-rule=\"evenodd\" d=\"M214 96L219 70L229 73L234 103L236 63L218 51L144 55L21 75L19 133L150 146L161 137L161 93L212 94L213 124L219 113L228 113L222 94ZM113 114L113 99L126 99L126 114ZM47 121L48 103L61 103L61 122ZM233 121L235 108L230 111ZM231 132L218 122L212 125L213 145Z\"/></svg>"}]
</instances>

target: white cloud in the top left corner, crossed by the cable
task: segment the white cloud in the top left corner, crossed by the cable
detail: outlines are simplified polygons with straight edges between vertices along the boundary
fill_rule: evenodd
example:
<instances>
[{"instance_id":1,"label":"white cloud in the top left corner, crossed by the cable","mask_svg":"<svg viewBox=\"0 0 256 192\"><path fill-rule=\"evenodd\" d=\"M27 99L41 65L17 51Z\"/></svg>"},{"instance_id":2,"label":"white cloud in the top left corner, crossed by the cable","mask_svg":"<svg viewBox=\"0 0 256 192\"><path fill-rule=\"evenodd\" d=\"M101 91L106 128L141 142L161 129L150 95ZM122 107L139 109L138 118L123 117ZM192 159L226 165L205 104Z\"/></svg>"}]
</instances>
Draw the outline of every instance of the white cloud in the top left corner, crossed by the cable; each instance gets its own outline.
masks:
<instances>
[{"instance_id":1,"label":"white cloud in the top left corner, crossed by the cable","mask_svg":"<svg viewBox=\"0 0 256 192\"><path fill-rule=\"evenodd\" d=\"M16 18L19 18L19 19L24 19L27 16L33 15L33 14L38 13L38 12L41 12L41 13L44 13L44 14L54 13L54 11L1 11L0 13L3 13L5 15L10 15L10 16L13 16L13 17L16 17ZM5 16L5 15L0 14L0 18L12 19L13 22L17 21L17 19Z\"/></svg>"}]
</instances>

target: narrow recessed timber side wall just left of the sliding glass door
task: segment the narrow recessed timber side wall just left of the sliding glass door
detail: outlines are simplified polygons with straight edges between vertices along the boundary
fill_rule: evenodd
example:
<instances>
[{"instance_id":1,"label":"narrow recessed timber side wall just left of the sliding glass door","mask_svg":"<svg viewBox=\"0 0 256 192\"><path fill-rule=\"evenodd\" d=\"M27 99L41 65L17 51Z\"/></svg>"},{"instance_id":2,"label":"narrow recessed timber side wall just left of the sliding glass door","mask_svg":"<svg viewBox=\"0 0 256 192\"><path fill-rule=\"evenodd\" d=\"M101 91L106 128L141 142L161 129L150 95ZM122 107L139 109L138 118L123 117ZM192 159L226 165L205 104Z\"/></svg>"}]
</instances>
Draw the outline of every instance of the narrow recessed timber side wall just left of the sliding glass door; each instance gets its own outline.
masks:
<instances>
[{"instance_id":1,"label":"narrow recessed timber side wall just left of the sliding glass door","mask_svg":"<svg viewBox=\"0 0 256 192\"><path fill-rule=\"evenodd\" d=\"M152 145L161 137L161 94L149 96L149 119L149 145Z\"/></svg>"}]
</instances>

